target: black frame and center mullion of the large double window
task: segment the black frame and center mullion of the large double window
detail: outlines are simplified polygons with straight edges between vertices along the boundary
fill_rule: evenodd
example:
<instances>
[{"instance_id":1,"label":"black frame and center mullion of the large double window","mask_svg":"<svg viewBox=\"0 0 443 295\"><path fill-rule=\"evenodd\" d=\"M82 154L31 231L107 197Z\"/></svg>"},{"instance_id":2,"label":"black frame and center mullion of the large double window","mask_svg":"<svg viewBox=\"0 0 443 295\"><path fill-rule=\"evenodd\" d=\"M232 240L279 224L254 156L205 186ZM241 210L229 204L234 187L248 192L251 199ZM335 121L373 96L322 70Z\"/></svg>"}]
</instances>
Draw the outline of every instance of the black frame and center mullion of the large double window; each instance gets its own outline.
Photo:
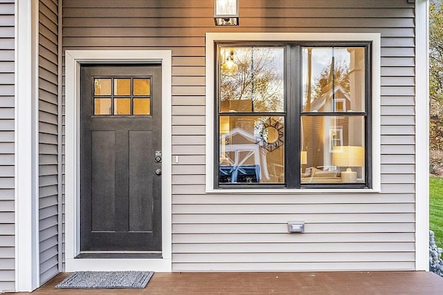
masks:
<instances>
[{"instance_id":1,"label":"black frame and center mullion of the large double window","mask_svg":"<svg viewBox=\"0 0 443 295\"><path fill-rule=\"evenodd\" d=\"M282 113L221 113L220 111L220 49L221 47L282 47L284 48L284 111ZM365 49L365 109L360 112L302 112L302 48L364 48ZM216 41L215 42L215 93L214 93L214 188L215 189L372 189L372 41ZM291 65L291 66L289 66ZM284 183L220 183L219 182L219 117L223 115L263 115L284 117ZM365 166L364 182L355 183L301 183L300 153L287 153L291 149L300 151L300 122L302 116L363 116Z\"/></svg>"}]
</instances>

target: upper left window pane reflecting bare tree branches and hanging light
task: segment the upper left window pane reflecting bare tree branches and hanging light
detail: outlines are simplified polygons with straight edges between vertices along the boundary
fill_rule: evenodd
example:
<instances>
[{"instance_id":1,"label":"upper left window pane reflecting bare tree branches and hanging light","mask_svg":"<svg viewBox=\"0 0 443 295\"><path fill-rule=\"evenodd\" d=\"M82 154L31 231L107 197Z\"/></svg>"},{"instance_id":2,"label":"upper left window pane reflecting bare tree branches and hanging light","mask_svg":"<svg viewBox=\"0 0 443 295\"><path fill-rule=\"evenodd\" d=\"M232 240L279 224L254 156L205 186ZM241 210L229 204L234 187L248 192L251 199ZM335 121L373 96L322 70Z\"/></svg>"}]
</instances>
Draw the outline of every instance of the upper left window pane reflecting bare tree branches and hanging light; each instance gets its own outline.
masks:
<instances>
[{"instance_id":1,"label":"upper left window pane reflecting bare tree branches and hanging light","mask_svg":"<svg viewBox=\"0 0 443 295\"><path fill-rule=\"evenodd\" d=\"M282 47L220 47L219 108L229 112L284 111Z\"/></svg>"}]
</instances>

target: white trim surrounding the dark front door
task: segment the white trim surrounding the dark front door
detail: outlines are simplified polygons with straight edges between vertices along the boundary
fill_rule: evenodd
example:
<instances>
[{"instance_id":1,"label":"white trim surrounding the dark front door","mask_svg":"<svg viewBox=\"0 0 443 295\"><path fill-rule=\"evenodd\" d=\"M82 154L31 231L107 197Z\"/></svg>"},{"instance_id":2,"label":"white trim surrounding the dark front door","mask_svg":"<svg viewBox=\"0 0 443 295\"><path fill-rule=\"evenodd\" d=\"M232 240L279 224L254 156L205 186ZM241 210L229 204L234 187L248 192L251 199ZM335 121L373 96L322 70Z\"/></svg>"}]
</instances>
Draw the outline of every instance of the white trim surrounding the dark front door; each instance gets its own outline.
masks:
<instances>
[{"instance_id":1,"label":"white trim surrounding the dark front door","mask_svg":"<svg viewBox=\"0 0 443 295\"><path fill-rule=\"evenodd\" d=\"M80 254L80 65L161 64L162 79L162 256L147 259L75 258ZM172 52L171 50L66 50L65 88L65 262L80 270L172 271Z\"/></svg>"}]
</instances>

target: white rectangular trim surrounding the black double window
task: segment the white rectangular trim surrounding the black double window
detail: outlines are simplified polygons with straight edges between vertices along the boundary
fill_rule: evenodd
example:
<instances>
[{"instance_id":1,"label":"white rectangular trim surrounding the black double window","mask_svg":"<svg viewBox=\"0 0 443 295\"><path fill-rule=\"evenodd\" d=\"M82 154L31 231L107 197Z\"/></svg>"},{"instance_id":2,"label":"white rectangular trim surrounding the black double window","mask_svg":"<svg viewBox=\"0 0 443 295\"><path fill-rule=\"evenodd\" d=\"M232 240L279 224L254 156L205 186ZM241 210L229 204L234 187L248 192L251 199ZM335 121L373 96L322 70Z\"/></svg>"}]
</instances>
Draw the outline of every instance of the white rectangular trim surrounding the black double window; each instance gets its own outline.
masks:
<instances>
[{"instance_id":1,"label":"white rectangular trim surrounding the black double window","mask_svg":"<svg viewBox=\"0 0 443 295\"><path fill-rule=\"evenodd\" d=\"M372 41L372 189L214 189L215 42L217 41ZM206 33L206 193L374 193L381 191L379 33Z\"/></svg>"}]
</instances>

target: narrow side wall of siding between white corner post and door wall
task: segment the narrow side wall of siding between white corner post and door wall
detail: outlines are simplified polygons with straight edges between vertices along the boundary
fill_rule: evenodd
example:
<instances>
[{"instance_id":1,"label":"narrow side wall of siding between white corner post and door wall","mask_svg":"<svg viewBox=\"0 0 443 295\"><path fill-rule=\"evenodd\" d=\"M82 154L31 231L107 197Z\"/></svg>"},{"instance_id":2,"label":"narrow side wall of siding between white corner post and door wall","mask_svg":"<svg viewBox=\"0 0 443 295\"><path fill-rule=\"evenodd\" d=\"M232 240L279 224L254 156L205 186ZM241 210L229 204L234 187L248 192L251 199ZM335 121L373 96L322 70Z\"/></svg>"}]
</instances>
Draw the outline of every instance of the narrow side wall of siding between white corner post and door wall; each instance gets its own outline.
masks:
<instances>
[{"instance_id":1,"label":"narrow side wall of siding between white corner post and door wall","mask_svg":"<svg viewBox=\"0 0 443 295\"><path fill-rule=\"evenodd\" d=\"M58 7L39 0L39 270L58 273Z\"/></svg>"}]
</instances>

